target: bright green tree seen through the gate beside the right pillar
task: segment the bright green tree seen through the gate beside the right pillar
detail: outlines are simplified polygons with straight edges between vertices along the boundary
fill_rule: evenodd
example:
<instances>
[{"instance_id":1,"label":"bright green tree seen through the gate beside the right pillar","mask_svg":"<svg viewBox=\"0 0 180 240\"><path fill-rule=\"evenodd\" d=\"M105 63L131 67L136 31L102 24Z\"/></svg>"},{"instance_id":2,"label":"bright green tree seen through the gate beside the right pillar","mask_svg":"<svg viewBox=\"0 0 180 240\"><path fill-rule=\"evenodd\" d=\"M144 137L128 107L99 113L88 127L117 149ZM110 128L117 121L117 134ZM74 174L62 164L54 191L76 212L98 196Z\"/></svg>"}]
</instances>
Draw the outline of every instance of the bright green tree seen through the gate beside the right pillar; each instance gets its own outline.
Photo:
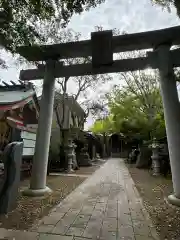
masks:
<instances>
[{"instance_id":1,"label":"bright green tree seen through the gate beside the right pillar","mask_svg":"<svg viewBox=\"0 0 180 240\"><path fill-rule=\"evenodd\" d=\"M162 100L156 72L128 72L120 74L120 86L106 97L110 112L107 119L96 121L92 131L116 132L129 138L149 140L165 136Z\"/></svg>"}]
</instances>

